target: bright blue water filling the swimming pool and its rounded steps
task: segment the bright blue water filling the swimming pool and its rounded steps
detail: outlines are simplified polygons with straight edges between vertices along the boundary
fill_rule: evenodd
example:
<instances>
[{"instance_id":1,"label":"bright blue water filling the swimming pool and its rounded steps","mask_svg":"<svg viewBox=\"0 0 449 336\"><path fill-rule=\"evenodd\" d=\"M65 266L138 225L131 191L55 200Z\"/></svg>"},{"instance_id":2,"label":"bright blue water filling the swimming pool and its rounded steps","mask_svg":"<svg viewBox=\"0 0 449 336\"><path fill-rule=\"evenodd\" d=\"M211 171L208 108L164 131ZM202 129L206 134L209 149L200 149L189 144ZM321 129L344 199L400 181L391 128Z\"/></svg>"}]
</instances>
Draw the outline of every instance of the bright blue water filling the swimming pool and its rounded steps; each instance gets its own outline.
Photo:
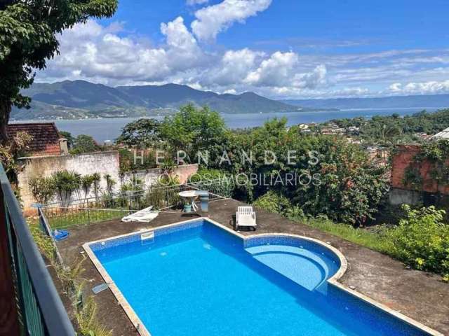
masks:
<instances>
[{"instance_id":1,"label":"bright blue water filling the swimming pool and its rounded steps","mask_svg":"<svg viewBox=\"0 0 449 336\"><path fill-rule=\"evenodd\" d=\"M329 284L328 248L194 221L91 244L152 336L427 335Z\"/></svg>"}]
</instances>

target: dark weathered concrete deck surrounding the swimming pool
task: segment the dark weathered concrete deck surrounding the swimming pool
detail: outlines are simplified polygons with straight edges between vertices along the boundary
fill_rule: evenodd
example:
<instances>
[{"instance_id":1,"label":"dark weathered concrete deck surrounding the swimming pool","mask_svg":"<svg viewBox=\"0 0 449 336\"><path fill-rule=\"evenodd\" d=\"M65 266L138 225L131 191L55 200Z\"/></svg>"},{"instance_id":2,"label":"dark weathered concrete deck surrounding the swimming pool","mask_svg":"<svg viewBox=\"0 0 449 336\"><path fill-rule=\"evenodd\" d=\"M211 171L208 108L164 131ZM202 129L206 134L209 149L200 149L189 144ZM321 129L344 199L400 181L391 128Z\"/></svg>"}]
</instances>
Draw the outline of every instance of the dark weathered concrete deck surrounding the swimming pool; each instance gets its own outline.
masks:
<instances>
[{"instance_id":1,"label":"dark weathered concrete deck surrounding the swimming pool","mask_svg":"<svg viewBox=\"0 0 449 336\"><path fill-rule=\"evenodd\" d=\"M210 203L210 218L232 228L236 207L242 205L235 200L220 200ZM401 262L368 248L358 246L339 237L321 232L307 225L288 221L277 214L264 211L257 213L257 231L241 232L242 235L262 233L284 233L302 235L330 242L338 248L349 262L347 272L339 280L345 286L353 287L387 307L449 335L449 285L441 282L435 274L409 270ZM180 213L161 213L151 223L121 223L109 221L90 226L70 229L71 236L58 242L60 253L67 263L79 258L83 244L88 241L105 239L134 232L142 228L155 228L161 225L185 221L189 216ZM194 217L193 217L194 218ZM103 282L97 269L87 259L83 268L83 278L88 281L86 290ZM138 335L123 309L110 290L95 295L98 304L98 318L114 336Z\"/></svg>"}]
</instances>

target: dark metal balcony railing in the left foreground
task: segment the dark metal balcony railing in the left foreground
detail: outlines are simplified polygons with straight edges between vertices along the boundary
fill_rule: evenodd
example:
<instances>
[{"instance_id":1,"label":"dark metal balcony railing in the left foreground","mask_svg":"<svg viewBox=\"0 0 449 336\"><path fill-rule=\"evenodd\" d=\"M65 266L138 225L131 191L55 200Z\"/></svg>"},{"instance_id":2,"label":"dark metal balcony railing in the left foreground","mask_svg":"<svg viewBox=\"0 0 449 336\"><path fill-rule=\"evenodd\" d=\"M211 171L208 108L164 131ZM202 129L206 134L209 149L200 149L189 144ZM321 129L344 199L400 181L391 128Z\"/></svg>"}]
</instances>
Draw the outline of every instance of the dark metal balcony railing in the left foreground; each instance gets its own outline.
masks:
<instances>
[{"instance_id":1,"label":"dark metal balcony railing in the left foreground","mask_svg":"<svg viewBox=\"0 0 449 336\"><path fill-rule=\"evenodd\" d=\"M0 320L4 335L74 336L55 285L0 165Z\"/></svg>"}]
</instances>

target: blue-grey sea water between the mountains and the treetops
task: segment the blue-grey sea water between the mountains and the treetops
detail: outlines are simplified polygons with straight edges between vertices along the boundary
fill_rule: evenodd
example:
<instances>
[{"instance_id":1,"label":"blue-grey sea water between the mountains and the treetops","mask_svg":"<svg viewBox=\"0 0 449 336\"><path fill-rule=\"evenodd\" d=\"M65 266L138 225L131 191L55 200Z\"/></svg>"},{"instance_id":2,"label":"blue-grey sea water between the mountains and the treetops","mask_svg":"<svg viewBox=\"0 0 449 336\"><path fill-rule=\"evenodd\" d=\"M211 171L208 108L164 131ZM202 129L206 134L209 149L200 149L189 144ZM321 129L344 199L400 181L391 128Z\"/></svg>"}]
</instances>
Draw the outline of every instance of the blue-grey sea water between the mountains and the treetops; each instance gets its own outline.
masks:
<instances>
[{"instance_id":1,"label":"blue-grey sea water between the mountains and the treetops","mask_svg":"<svg viewBox=\"0 0 449 336\"><path fill-rule=\"evenodd\" d=\"M290 112L290 113L241 113L241 114L222 114L225 123L229 128L245 128L261 126L272 118L287 118L288 125L297 125L300 123L323 123L332 119L373 116L390 116L398 113L401 116L426 110L428 112L436 111L434 107L414 107L405 109L353 109L341 111L314 111L314 112ZM56 120L55 123L60 131L67 131L74 136L79 134L91 135L95 140L102 143L105 140L112 140L119 137L121 129L128 123L138 118L107 118L107 119L82 119L82 120ZM162 120L163 117L156 117ZM23 121L20 121L22 123Z\"/></svg>"}]
</instances>

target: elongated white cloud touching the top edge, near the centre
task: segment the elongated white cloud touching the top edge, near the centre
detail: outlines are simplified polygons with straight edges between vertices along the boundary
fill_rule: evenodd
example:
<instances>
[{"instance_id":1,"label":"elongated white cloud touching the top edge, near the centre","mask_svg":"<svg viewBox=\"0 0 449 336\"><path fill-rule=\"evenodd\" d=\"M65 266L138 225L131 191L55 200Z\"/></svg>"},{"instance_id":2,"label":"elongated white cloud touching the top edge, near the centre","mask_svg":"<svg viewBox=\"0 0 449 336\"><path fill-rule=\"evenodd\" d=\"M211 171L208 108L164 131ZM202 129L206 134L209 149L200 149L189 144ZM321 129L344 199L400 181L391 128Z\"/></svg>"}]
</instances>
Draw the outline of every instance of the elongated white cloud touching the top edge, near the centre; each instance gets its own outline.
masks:
<instances>
[{"instance_id":1,"label":"elongated white cloud touching the top edge, near the centre","mask_svg":"<svg viewBox=\"0 0 449 336\"><path fill-rule=\"evenodd\" d=\"M224 0L213 6L196 10L196 20L192 22L192 31L203 41L217 36L234 22L245 22L250 16L266 10L272 0Z\"/></svg>"}]
</instances>

